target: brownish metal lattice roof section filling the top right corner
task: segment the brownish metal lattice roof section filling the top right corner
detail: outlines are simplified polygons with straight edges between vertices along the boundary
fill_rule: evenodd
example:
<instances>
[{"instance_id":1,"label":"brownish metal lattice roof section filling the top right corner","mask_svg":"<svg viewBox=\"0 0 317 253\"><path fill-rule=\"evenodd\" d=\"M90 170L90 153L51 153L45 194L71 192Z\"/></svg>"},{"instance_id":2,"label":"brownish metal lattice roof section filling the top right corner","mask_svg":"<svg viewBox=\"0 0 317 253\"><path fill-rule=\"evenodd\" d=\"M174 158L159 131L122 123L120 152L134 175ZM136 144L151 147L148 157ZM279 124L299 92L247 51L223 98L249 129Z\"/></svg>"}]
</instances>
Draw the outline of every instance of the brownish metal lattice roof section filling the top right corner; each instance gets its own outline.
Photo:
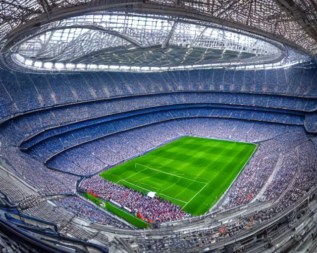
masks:
<instances>
[{"instance_id":1,"label":"brownish metal lattice roof section filling the top right corner","mask_svg":"<svg viewBox=\"0 0 317 253\"><path fill-rule=\"evenodd\" d=\"M149 0L287 39L317 54L316 0Z\"/></svg>"}]
</instances>

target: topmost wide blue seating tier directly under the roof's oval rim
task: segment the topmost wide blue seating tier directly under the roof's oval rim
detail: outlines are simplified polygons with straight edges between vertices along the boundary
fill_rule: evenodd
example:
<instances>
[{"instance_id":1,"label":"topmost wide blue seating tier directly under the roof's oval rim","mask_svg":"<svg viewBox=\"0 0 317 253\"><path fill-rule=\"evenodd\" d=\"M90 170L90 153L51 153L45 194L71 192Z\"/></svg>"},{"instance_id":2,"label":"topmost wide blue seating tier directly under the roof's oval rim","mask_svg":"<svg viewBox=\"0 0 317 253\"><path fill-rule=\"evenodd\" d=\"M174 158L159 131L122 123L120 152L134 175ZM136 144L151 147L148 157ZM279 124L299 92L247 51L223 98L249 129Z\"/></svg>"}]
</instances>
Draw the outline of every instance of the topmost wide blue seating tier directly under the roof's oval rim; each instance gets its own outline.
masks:
<instances>
[{"instance_id":1,"label":"topmost wide blue seating tier directly under the roof's oval rim","mask_svg":"<svg viewBox=\"0 0 317 253\"><path fill-rule=\"evenodd\" d=\"M0 70L0 118L67 103L131 94L219 91L317 97L316 69L193 70L39 75Z\"/></svg>"}]
</instances>

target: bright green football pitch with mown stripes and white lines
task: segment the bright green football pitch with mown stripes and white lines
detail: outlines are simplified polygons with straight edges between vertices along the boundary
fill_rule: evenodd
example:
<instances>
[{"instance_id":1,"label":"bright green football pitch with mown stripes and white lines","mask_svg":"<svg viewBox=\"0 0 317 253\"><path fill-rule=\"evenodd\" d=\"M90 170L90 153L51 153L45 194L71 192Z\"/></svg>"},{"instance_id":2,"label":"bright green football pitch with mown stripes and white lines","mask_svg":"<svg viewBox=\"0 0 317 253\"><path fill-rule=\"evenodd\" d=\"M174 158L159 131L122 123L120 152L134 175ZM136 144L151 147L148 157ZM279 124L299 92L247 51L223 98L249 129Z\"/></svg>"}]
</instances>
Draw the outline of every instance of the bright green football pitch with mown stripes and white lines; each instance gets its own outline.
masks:
<instances>
[{"instance_id":1,"label":"bright green football pitch with mown stripes and white lines","mask_svg":"<svg viewBox=\"0 0 317 253\"><path fill-rule=\"evenodd\" d=\"M101 176L179 205L192 215L213 206L248 162L252 143L183 137Z\"/></svg>"}]
</instances>

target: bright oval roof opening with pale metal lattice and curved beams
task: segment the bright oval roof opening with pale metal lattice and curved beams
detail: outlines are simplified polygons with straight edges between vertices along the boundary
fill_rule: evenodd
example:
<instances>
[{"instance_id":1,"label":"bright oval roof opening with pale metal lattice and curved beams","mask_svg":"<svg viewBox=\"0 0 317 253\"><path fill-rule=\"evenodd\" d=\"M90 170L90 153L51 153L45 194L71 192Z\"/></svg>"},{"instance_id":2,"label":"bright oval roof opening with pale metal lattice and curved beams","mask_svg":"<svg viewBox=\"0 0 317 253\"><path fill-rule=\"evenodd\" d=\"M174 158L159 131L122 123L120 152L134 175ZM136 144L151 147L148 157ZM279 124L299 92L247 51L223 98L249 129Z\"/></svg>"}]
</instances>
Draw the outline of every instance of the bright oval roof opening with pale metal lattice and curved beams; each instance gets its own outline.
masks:
<instances>
[{"instance_id":1,"label":"bright oval roof opening with pale metal lattice and curved beams","mask_svg":"<svg viewBox=\"0 0 317 253\"><path fill-rule=\"evenodd\" d=\"M59 69L70 64L169 68L267 62L282 54L266 41L169 16L94 14L56 21L42 30L11 48L21 63L38 68L54 63Z\"/></svg>"}]
</instances>

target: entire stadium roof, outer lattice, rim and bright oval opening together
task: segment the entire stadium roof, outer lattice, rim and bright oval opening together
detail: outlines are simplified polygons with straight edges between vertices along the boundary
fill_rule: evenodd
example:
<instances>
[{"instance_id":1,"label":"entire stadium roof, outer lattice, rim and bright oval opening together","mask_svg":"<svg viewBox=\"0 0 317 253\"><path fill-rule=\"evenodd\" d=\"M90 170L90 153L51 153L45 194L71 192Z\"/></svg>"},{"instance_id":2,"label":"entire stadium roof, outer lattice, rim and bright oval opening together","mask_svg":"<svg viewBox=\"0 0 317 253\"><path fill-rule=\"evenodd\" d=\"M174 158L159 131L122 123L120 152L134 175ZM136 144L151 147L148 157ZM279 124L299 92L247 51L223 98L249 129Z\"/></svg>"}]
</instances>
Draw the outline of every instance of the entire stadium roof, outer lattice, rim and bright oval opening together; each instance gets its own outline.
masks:
<instances>
[{"instance_id":1,"label":"entire stadium roof, outer lattice, rim and bright oval opening together","mask_svg":"<svg viewBox=\"0 0 317 253\"><path fill-rule=\"evenodd\" d=\"M21 71L284 67L317 55L316 0L4 0Z\"/></svg>"}]
</instances>

